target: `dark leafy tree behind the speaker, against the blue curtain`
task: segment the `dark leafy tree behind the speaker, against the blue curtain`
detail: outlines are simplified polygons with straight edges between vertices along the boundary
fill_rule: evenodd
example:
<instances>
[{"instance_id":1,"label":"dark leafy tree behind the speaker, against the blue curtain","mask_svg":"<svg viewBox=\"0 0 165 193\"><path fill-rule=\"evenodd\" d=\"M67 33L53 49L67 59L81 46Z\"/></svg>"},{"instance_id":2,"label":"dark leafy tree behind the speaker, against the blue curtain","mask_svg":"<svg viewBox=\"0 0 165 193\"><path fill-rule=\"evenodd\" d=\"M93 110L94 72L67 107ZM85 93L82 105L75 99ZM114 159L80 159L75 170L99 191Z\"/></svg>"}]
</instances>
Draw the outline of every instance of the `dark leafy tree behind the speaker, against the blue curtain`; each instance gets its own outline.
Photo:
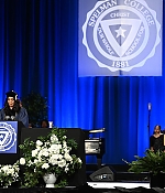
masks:
<instances>
[{"instance_id":1,"label":"dark leafy tree behind the speaker, against the blue curtain","mask_svg":"<svg viewBox=\"0 0 165 193\"><path fill-rule=\"evenodd\" d=\"M30 122L40 127L43 119L47 119L47 99L37 93L31 92L22 98L22 105L28 110Z\"/></svg>"}]
</instances>

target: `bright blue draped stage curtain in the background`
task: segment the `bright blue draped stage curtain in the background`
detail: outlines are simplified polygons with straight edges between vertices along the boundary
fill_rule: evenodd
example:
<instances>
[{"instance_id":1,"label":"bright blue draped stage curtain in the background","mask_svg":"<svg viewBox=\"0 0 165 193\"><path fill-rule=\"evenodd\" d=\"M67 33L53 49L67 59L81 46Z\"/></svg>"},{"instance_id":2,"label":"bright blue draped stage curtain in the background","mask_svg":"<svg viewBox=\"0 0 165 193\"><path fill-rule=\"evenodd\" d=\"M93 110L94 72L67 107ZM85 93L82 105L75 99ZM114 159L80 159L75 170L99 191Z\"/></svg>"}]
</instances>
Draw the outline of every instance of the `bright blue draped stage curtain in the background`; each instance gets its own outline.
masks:
<instances>
[{"instance_id":1,"label":"bright blue draped stage curtain in the background","mask_svg":"<svg viewBox=\"0 0 165 193\"><path fill-rule=\"evenodd\" d=\"M6 92L33 90L56 127L105 127L103 163L143 156L165 128L164 65L162 77L78 77L78 0L0 0L0 107Z\"/></svg>"}]
</instances>

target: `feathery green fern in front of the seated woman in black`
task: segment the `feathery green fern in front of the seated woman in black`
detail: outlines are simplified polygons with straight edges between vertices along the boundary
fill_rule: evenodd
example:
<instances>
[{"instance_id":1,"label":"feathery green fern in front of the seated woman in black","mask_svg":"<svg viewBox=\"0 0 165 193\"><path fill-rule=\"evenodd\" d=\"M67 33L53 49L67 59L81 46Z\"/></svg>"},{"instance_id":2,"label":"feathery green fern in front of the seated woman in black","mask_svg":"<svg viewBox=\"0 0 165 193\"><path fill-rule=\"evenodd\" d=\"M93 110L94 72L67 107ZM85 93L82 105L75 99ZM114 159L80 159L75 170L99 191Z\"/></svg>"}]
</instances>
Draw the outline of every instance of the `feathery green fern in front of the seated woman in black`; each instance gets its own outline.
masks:
<instances>
[{"instance_id":1,"label":"feathery green fern in front of the seated woman in black","mask_svg":"<svg viewBox=\"0 0 165 193\"><path fill-rule=\"evenodd\" d=\"M151 172L153 174L165 172L165 152L163 151L146 150L145 157L135 156L135 161L129 163L130 172Z\"/></svg>"}]
</instances>

